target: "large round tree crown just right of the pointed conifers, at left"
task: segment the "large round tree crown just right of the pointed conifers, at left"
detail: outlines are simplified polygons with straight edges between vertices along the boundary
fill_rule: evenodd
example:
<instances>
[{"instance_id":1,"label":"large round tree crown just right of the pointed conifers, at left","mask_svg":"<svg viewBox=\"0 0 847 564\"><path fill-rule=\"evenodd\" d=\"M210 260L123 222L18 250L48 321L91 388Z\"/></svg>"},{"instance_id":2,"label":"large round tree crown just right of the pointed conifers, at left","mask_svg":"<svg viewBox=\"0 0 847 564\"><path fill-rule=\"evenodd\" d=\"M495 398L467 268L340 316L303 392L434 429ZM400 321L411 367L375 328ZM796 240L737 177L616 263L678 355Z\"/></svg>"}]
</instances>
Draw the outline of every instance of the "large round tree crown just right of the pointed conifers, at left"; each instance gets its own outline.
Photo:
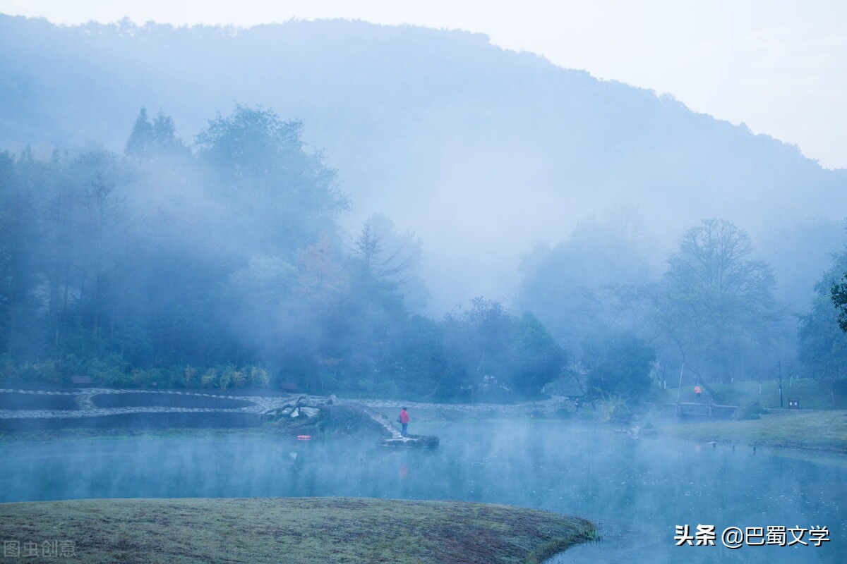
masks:
<instances>
[{"instance_id":1,"label":"large round tree crown just right of the pointed conifers, at left","mask_svg":"<svg viewBox=\"0 0 847 564\"><path fill-rule=\"evenodd\" d=\"M230 206L233 227L252 249L291 258L321 233L333 233L347 200L320 152L306 151L302 123L236 106L197 135L202 162Z\"/></svg>"}]
</instances>

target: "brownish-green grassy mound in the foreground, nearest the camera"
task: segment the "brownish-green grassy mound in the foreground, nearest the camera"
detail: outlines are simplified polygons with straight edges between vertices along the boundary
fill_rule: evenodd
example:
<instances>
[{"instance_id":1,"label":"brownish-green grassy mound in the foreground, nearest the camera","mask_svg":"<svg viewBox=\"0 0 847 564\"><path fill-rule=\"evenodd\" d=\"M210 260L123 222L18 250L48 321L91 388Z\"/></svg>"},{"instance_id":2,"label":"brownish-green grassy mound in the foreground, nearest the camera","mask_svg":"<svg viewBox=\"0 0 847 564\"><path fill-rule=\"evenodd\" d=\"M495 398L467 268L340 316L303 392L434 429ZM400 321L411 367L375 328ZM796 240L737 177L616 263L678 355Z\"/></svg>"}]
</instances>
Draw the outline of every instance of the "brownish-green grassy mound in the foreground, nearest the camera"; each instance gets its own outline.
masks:
<instances>
[{"instance_id":1,"label":"brownish-green grassy mound in the foreground, nearest the camera","mask_svg":"<svg viewBox=\"0 0 847 564\"><path fill-rule=\"evenodd\" d=\"M21 546L71 540L76 556L91 564L538 562L594 535L594 526L579 517L453 501L257 498L0 504L0 539L18 540Z\"/></svg>"}]
</instances>

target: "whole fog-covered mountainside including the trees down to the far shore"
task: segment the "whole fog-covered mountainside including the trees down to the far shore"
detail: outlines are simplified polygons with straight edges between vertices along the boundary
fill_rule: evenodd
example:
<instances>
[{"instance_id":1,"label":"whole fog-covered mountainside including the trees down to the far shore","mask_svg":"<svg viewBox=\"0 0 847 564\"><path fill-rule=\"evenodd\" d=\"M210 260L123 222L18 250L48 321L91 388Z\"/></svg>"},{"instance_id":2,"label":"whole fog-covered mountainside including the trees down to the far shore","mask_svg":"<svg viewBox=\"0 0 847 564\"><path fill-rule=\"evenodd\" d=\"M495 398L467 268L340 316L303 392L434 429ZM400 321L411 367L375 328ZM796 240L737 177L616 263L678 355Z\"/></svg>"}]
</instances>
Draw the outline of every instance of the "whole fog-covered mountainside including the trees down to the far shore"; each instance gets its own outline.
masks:
<instances>
[{"instance_id":1,"label":"whole fog-covered mountainside including the trees down to the far shore","mask_svg":"<svg viewBox=\"0 0 847 564\"><path fill-rule=\"evenodd\" d=\"M362 22L0 48L3 380L638 398L844 358L847 172L669 96Z\"/></svg>"}]
</instances>

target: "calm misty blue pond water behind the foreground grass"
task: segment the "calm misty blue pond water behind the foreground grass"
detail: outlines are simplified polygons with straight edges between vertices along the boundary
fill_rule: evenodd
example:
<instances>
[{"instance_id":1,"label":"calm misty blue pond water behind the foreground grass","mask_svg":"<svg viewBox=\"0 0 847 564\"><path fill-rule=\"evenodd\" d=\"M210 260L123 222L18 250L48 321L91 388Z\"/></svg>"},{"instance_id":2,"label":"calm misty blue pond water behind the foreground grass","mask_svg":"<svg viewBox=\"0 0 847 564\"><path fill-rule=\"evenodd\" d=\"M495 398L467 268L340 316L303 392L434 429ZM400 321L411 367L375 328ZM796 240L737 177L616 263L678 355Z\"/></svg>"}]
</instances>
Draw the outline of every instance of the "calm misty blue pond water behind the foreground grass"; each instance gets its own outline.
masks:
<instances>
[{"instance_id":1,"label":"calm misty blue pond water behind the foreground grass","mask_svg":"<svg viewBox=\"0 0 847 564\"><path fill-rule=\"evenodd\" d=\"M0 445L0 501L86 497L369 496L465 500L589 517L605 540L556 562L844 562L844 457L812 463L564 422L417 425L433 451L368 441L202 437ZM675 546L713 524L717 546ZM826 526L821 547L723 547L730 526ZM791 535L789 534L789 540ZM804 538L808 540L808 536Z\"/></svg>"}]
</instances>

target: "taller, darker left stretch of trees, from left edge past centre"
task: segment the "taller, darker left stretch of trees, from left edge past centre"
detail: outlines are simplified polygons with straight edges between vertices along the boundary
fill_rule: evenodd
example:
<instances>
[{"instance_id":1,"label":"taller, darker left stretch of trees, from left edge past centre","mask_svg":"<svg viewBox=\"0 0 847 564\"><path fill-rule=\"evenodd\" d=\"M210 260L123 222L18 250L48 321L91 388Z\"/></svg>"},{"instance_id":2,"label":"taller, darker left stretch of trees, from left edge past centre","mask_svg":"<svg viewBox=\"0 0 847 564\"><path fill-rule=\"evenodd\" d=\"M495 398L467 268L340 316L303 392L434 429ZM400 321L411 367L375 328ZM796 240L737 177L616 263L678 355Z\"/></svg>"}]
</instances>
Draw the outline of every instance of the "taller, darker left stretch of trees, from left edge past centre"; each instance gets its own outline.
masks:
<instances>
[{"instance_id":1,"label":"taller, darker left stretch of trees, from left edge past centre","mask_svg":"<svg viewBox=\"0 0 847 564\"><path fill-rule=\"evenodd\" d=\"M531 314L443 320L421 243L348 200L302 123L239 106L189 146L141 110L123 155L0 153L3 381L532 397L565 353Z\"/></svg>"}]
</instances>

